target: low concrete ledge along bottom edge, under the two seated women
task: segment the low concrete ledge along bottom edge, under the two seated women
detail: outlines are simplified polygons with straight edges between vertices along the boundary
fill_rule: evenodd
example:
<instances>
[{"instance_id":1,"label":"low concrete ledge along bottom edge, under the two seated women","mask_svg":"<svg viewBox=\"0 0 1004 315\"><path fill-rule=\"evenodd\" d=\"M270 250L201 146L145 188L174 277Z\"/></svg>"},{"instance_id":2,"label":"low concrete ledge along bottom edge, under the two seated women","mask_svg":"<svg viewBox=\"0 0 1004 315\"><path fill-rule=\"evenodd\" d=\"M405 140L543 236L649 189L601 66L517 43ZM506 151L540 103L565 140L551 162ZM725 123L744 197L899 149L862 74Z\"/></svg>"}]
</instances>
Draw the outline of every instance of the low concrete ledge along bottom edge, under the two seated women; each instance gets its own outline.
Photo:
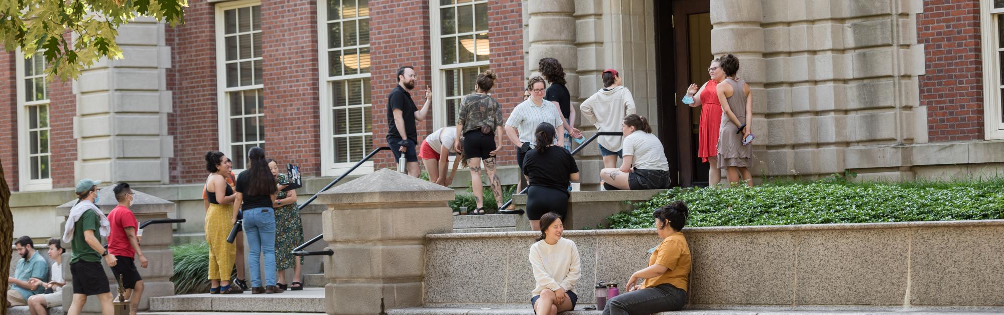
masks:
<instances>
[{"instance_id":1,"label":"low concrete ledge along bottom edge, under the two seated women","mask_svg":"<svg viewBox=\"0 0 1004 315\"><path fill-rule=\"evenodd\" d=\"M585 311L582 308L594 304L579 304L575 309L561 315L599 315L601 311ZM937 308L904 310L900 307L862 308L859 306L793 308L784 306L758 306L748 309L685 309L675 312L655 313L656 315L990 315L1001 314L999 308ZM439 305L394 309L389 315L534 315L530 304L526 305Z\"/></svg>"}]
</instances>

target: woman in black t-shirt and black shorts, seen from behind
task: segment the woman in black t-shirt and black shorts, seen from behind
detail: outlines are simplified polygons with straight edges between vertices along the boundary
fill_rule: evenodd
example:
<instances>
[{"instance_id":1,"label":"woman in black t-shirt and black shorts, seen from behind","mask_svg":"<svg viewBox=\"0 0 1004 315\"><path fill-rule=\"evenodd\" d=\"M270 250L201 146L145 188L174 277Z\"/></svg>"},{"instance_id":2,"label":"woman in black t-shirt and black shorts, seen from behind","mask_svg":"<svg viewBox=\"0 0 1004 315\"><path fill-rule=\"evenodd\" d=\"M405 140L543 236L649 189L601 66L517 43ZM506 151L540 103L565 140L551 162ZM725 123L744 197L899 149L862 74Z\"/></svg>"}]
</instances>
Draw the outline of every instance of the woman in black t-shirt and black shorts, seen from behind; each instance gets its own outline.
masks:
<instances>
[{"instance_id":1,"label":"woman in black t-shirt and black shorts, seen from behind","mask_svg":"<svg viewBox=\"0 0 1004 315\"><path fill-rule=\"evenodd\" d=\"M526 217L533 230L540 230L540 218L553 212L564 216L568 209L568 186L578 181L578 166L565 149L553 149L554 125L537 124L533 149L526 152L523 175L529 179L526 193Z\"/></svg>"}]
</instances>

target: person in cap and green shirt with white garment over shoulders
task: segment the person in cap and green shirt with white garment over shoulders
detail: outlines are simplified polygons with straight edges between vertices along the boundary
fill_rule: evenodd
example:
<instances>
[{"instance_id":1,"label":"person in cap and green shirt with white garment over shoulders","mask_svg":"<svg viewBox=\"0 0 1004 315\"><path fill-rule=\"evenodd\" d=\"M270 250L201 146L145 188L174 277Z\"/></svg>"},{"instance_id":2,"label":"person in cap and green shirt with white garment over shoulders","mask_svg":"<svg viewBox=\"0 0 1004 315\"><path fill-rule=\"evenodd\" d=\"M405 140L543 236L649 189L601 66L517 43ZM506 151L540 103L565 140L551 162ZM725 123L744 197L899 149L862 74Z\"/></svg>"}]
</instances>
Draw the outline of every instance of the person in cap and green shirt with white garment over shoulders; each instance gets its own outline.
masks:
<instances>
[{"instance_id":1,"label":"person in cap and green shirt with white garment over shoulders","mask_svg":"<svg viewBox=\"0 0 1004 315\"><path fill-rule=\"evenodd\" d=\"M111 231L108 219L94 204L97 203L97 185L100 181L89 179L76 183L76 205L69 211L66 218L66 232L63 242L70 244L72 255L69 260L69 273L73 276L73 302L69 306L69 315L79 315L87 297L96 295L101 303L101 313L113 314L111 308L111 289L108 277L101 267L101 258L114 267L117 261L114 255L101 246L101 238L107 238ZM96 232L96 235L95 235Z\"/></svg>"}]
</instances>

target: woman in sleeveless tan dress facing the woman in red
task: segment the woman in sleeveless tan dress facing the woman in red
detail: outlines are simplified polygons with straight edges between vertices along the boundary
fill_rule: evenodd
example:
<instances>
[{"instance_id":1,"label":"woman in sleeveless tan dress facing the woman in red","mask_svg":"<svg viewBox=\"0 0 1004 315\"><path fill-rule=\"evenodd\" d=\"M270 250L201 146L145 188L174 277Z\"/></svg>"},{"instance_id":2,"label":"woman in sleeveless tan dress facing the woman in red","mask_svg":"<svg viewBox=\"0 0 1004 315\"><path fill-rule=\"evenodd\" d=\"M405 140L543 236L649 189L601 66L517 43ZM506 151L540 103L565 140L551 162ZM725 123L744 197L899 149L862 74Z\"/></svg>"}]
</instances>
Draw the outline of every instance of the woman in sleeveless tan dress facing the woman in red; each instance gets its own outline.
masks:
<instances>
[{"instance_id":1,"label":"woman in sleeveless tan dress facing the woman in red","mask_svg":"<svg viewBox=\"0 0 1004 315\"><path fill-rule=\"evenodd\" d=\"M741 176L747 186L753 187L753 175L749 171L753 164L753 143L743 144L743 139L752 133L753 94L750 85L736 77L739 58L730 53L719 60L726 78L717 86L719 103L722 104L718 169L726 170L730 185L739 183Z\"/></svg>"}]
</instances>

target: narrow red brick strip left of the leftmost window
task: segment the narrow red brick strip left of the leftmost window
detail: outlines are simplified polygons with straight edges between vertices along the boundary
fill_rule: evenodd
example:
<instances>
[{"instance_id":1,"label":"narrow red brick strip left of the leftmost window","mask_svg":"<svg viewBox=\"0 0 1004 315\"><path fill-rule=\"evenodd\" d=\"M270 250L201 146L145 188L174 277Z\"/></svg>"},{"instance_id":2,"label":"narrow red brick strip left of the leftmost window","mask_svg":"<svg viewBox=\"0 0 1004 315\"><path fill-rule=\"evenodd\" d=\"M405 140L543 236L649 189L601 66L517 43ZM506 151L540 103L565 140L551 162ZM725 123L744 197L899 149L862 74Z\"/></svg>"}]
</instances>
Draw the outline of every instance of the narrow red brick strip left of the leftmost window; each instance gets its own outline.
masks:
<instances>
[{"instance_id":1,"label":"narrow red brick strip left of the leftmost window","mask_svg":"<svg viewBox=\"0 0 1004 315\"><path fill-rule=\"evenodd\" d=\"M17 71L15 54L0 51L0 162L4 180L12 192L18 190L17 170Z\"/></svg>"}]
</instances>

